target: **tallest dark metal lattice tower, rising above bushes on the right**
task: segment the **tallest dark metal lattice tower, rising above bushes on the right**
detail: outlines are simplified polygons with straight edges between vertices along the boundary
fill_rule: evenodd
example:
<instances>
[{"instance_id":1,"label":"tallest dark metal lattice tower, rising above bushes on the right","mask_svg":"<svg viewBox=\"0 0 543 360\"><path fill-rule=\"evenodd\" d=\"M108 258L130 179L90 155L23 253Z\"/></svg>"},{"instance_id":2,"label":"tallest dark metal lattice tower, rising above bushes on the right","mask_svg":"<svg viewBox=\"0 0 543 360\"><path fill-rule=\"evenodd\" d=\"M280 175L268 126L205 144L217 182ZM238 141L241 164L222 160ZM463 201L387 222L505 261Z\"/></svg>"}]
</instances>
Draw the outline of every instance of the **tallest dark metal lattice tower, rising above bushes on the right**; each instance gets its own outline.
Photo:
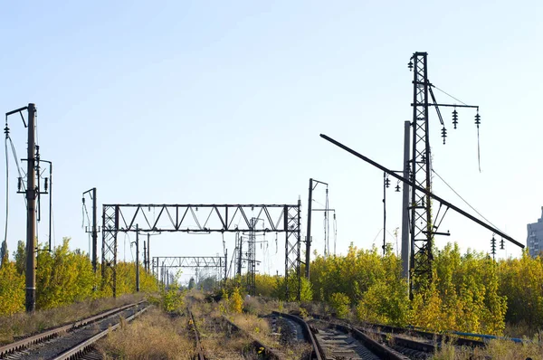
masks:
<instances>
[{"instance_id":1,"label":"tallest dark metal lattice tower, rising above bushes on the right","mask_svg":"<svg viewBox=\"0 0 543 360\"><path fill-rule=\"evenodd\" d=\"M428 128L427 52L413 54L413 143L411 181L432 191L432 156ZM418 279L432 277L432 202L428 194L411 188L411 267Z\"/></svg>"}]
</instances>

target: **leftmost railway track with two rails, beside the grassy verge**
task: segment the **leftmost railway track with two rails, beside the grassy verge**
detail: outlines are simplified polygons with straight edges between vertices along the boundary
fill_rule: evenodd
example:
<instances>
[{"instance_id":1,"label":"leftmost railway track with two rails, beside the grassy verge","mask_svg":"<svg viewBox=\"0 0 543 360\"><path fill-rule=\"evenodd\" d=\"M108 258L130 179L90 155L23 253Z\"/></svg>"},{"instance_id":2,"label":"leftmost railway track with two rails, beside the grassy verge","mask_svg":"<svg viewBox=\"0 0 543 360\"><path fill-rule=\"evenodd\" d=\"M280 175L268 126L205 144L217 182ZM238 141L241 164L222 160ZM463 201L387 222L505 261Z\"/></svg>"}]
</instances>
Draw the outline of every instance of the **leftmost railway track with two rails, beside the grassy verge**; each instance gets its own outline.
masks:
<instances>
[{"instance_id":1,"label":"leftmost railway track with two rails, beside the grassy verge","mask_svg":"<svg viewBox=\"0 0 543 360\"><path fill-rule=\"evenodd\" d=\"M72 360L101 358L93 345L120 325L120 317L130 321L147 309L143 302L114 308L94 317L25 337L0 347L0 359Z\"/></svg>"}]
</instances>

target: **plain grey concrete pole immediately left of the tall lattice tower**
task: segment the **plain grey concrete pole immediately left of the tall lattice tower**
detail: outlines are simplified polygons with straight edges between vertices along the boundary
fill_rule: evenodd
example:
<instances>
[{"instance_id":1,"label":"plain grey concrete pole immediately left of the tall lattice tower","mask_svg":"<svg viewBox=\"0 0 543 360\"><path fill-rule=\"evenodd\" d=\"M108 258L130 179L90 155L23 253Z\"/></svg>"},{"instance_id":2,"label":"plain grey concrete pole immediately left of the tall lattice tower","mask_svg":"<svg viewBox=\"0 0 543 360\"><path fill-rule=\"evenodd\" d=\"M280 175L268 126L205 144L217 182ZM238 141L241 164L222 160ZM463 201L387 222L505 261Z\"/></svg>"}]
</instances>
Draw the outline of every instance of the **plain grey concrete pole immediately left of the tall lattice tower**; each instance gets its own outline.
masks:
<instances>
[{"instance_id":1,"label":"plain grey concrete pole immediately left of the tall lattice tower","mask_svg":"<svg viewBox=\"0 0 543 360\"><path fill-rule=\"evenodd\" d=\"M409 179L409 134L411 123L405 121L404 124L404 175L405 179ZM409 292L409 261L411 260L411 243L409 241L409 185L404 183L403 201L402 201L402 276L407 281L407 292Z\"/></svg>"}]
</instances>

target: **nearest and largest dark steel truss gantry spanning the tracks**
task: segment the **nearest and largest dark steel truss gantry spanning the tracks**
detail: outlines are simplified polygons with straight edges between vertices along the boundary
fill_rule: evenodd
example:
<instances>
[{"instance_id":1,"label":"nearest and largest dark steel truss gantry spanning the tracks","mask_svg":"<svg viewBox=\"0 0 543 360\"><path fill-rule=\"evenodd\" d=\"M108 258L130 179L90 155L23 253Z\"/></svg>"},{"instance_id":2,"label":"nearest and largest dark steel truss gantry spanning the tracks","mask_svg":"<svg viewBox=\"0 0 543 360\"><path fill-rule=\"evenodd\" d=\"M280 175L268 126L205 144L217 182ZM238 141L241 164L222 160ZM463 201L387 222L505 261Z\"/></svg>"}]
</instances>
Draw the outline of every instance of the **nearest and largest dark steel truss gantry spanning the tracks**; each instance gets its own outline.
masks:
<instances>
[{"instance_id":1,"label":"nearest and largest dark steel truss gantry spanning the tracks","mask_svg":"<svg viewBox=\"0 0 543 360\"><path fill-rule=\"evenodd\" d=\"M102 279L117 295L119 232L284 232L286 298L300 300L300 200L298 204L104 204ZM152 210L152 212L151 212ZM262 219L255 228L252 218Z\"/></svg>"}]
</instances>

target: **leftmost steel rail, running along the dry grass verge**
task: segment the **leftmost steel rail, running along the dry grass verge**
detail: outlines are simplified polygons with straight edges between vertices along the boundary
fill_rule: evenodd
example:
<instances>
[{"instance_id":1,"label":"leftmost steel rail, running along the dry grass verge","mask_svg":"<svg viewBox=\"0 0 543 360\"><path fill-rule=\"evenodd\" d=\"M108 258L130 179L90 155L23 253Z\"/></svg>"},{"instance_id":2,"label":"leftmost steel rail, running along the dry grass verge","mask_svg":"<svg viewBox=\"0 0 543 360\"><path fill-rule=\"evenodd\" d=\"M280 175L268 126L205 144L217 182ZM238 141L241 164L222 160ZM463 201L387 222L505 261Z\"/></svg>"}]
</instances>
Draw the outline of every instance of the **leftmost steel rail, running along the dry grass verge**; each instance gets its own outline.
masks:
<instances>
[{"instance_id":1,"label":"leftmost steel rail, running along the dry grass verge","mask_svg":"<svg viewBox=\"0 0 543 360\"><path fill-rule=\"evenodd\" d=\"M55 327L51 330L44 331L42 333L36 334L34 336L28 336L24 337L21 340L17 340L14 343L7 344L5 346L0 346L0 358L4 357L5 355L9 355L14 353L15 351L22 350L28 346L32 346L34 344L42 343L43 341L49 340L53 337L59 336L62 333L71 331L73 329L83 327L85 325L88 325L90 323L96 322L104 317L110 317L111 315L118 313L120 311L123 311L127 308L131 308L134 306L137 306L141 304L143 301L140 301L138 303L133 303L129 305L122 306L120 308L113 308L111 310L108 310L106 312L103 312L101 314L95 315L93 317L87 317L82 320L74 321L71 324L64 325L62 327Z\"/></svg>"}]
</instances>

